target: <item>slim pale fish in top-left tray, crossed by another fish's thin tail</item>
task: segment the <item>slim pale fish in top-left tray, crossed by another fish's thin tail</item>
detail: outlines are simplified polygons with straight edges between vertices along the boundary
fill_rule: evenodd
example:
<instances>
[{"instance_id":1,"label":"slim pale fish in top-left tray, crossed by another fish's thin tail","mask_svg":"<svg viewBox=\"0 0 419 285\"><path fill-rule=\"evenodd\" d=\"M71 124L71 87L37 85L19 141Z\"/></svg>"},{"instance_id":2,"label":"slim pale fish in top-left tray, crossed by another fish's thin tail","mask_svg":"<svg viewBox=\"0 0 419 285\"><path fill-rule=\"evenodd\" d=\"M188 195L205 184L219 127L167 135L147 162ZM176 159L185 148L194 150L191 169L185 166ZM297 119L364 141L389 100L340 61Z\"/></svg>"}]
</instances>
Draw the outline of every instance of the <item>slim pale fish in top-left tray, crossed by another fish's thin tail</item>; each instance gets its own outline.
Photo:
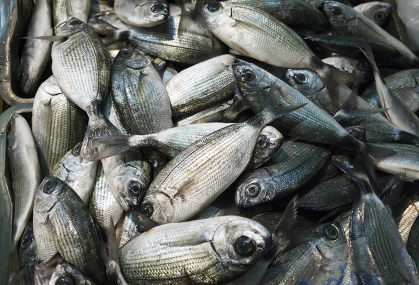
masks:
<instances>
[{"instance_id":1,"label":"slim pale fish in top-left tray, crossed by another fish's thin tail","mask_svg":"<svg viewBox=\"0 0 419 285\"><path fill-rule=\"evenodd\" d=\"M50 1L41 0L35 4L27 37L52 36L52 9ZM48 61L50 61L52 43L28 38L23 47L19 66L20 89L24 94L33 95L38 88Z\"/></svg>"}]
</instances>

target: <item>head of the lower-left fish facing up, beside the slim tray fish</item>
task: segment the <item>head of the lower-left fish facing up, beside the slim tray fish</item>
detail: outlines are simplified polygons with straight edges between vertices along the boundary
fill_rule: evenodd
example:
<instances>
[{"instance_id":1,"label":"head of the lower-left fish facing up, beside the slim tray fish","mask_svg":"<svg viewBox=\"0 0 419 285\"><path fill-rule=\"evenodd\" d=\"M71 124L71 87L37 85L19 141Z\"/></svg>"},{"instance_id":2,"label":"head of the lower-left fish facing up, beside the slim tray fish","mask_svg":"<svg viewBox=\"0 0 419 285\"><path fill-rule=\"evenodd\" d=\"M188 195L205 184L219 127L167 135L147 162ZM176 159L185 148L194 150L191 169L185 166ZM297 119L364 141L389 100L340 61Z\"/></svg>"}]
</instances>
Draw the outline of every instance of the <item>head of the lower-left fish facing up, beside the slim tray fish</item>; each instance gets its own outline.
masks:
<instances>
[{"instance_id":1,"label":"head of the lower-left fish facing up, beside the slim tray fish","mask_svg":"<svg viewBox=\"0 0 419 285\"><path fill-rule=\"evenodd\" d=\"M50 212L70 187L57 177L47 176L36 190L34 210L38 213Z\"/></svg>"}]
</instances>

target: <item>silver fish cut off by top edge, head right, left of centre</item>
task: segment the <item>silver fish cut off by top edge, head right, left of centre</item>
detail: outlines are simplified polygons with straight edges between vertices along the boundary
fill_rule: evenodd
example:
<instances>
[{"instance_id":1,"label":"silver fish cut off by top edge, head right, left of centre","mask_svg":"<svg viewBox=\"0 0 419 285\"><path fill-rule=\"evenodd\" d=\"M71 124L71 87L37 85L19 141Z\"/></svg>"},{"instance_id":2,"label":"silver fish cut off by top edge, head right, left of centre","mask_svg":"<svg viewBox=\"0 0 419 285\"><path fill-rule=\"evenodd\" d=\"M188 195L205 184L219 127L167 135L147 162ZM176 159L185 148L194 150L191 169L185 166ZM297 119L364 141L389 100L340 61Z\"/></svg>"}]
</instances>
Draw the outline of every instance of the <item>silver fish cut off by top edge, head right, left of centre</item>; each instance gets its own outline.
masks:
<instances>
[{"instance_id":1,"label":"silver fish cut off by top edge, head right, left of centre","mask_svg":"<svg viewBox=\"0 0 419 285\"><path fill-rule=\"evenodd\" d=\"M114 9L119 19L135 27L154 27L169 17L166 0L116 0Z\"/></svg>"}]
</instances>

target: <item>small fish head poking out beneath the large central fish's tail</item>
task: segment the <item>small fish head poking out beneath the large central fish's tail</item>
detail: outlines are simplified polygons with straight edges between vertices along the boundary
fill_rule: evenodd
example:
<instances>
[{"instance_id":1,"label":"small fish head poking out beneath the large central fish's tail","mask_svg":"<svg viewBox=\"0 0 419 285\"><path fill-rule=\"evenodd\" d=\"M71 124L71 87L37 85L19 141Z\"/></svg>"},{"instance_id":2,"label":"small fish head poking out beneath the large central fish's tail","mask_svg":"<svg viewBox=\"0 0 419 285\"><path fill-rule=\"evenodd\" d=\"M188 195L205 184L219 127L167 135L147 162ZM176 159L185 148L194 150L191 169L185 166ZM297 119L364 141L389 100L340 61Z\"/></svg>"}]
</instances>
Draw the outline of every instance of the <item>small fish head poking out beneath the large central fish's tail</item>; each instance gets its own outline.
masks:
<instances>
[{"instance_id":1,"label":"small fish head poking out beneath the large central fish's tail","mask_svg":"<svg viewBox=\"0 0 419 285\"><path fill-rule=\"evenodd\" d=\"M253 150L254 166L258 167L270 159L270 156L281 147L283 142L284 136L282 136L282 133L279 133L273 126L265 126L260 131L258 140L256 140L256 147Z\"/></svg>"}]
</instances>

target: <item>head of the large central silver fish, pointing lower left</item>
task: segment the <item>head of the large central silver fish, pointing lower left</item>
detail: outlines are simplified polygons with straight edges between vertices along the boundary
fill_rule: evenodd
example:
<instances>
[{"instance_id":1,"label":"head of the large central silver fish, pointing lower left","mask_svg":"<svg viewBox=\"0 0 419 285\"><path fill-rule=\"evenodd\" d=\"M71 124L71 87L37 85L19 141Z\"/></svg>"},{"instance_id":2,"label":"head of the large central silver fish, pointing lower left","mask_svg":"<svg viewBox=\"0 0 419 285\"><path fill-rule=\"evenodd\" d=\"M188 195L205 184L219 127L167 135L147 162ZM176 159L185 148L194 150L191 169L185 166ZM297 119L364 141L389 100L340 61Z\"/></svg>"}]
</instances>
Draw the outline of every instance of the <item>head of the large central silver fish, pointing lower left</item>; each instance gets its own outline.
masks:
<instances>
[{"instance_id":1,"label":"head of the large central silver fish, pointing lower left","mask_svg":"<svg viewBox=\"0 0 419 285\"><path fill-rule=\"evenodd\" d=\"M160 191L147 195L142 200L140 211L160 225L172 223L173 217L175 217L175 206L172 198Z\"/></svg>"}]
</instances>

